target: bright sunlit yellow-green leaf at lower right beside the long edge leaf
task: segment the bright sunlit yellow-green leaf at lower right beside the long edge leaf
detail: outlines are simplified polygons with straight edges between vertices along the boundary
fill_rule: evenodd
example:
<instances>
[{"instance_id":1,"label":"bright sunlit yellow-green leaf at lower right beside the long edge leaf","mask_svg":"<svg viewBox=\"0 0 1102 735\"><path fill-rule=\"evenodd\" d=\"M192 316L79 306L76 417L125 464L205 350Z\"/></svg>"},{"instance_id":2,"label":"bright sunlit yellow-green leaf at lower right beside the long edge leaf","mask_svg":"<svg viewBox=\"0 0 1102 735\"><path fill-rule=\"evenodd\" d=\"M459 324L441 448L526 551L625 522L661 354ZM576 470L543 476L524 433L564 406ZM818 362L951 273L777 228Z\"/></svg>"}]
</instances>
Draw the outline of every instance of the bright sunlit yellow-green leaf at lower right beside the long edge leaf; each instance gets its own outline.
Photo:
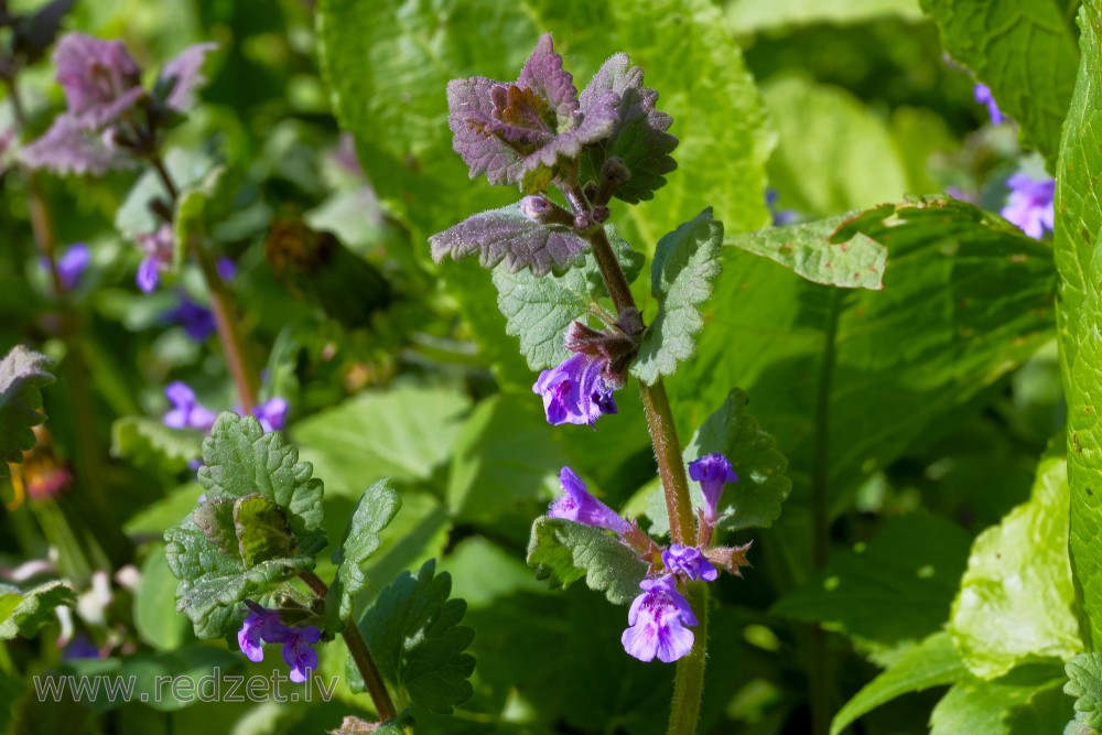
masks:
<instances>
[{"instance_id":1,"label":"bright sunlit yellow-green leaf at lower right beside the long edge leaf","mask_svg":"<svg viewBox=\"0 0 1102 735\"><path fill-rule=\"evenodd\" d=\"M1082 650L1068 560L1067 473L1062 451L1042 458L1029 501L972 544L949 630L981 679Z\"/></svg>"}]
</instances>

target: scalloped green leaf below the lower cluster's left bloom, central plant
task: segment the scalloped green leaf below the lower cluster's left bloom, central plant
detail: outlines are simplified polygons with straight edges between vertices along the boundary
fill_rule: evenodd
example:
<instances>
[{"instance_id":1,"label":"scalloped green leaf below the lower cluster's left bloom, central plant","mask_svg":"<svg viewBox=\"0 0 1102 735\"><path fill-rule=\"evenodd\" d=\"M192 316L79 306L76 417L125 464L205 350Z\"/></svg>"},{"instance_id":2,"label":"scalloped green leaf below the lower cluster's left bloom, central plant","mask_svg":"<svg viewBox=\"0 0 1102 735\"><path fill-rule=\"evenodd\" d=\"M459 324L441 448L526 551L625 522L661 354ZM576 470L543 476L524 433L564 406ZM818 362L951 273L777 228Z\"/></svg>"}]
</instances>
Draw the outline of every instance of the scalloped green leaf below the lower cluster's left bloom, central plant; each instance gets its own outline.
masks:
<instances>
[{"instance_id":1,"label":"scalloped green leaf below the lower cluster's left bloom, central plant","mask_svg":"<svg viewBox=\"0 0 1102 735\"><path fill-rule=\"evenodd\" d=\"M552 588L569 587L585 577L591 590L608 602L626 605L639 596L648 565L607 531L563 518L540 516L528 541L528 565Z\"/></svg>"}]
</instances>

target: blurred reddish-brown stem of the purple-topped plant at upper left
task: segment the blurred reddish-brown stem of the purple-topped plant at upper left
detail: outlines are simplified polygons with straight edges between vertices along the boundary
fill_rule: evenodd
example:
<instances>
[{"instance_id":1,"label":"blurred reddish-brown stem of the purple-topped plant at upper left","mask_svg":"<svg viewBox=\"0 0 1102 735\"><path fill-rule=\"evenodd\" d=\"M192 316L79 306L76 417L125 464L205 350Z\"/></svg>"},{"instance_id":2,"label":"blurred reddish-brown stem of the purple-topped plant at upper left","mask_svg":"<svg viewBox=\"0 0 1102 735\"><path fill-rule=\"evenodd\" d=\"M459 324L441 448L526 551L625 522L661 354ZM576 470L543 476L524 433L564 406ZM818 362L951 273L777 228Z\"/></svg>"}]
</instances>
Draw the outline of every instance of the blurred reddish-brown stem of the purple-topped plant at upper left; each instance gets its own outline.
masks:
<instances>
[{"instance_id":1,"label":"blurred reddish-brown stem of the purple-topped plant at upper left","mask_svg":"<svg viewBox=\"0 0 1102 735\"><path fill-rule=\"evenodd\" d=\"M165 167L164 161L160 154L154 154L150 158L150 163L153 165L153 170L156 171L161 183L164 184L164 188L169 193L169 197L175 205L180 198L180 191L172 181L172 175L169 173L168 167ZM215 326L218 329L218 341L222 343L222 352L226 357L226 365L229 367L229 372L234 378L234 385L237 386L237 396L241 403L241 410L246 413L251 413L256 406L256 397L259 389L259 374L248 363L248 353L245 349L241 334L237 328L238 318L234 298L229 293L229 289L226 288L226 282L218 274L218 269L206 248L196 238L192 238L187 245L192 252L195 253L195 260L199 264L199 270L203 271L203 279L206 281L207 291L210 293L210 307L214 312Z\"/></svg>"}]
</instances>

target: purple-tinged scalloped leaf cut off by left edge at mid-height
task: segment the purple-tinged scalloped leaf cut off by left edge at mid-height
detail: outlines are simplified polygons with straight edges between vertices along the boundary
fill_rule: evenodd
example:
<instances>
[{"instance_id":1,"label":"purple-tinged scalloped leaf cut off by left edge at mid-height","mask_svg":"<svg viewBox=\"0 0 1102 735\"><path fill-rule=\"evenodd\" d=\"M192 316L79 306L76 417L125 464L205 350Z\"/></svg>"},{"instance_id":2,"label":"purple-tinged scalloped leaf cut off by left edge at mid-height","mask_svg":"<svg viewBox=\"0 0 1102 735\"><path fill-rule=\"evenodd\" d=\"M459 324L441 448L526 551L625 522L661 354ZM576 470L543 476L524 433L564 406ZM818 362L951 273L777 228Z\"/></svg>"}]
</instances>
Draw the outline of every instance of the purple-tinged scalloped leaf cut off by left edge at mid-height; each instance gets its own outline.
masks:
<instances>
[{"instance_id":1,"label":"purple-tinged scalloped leaf cut off by left edge at mid-height","mask_svg":"<svg viewBox=\"0 0 1102 735\"><path fill-rule=\"evenodd\" d=\"M34 446L35 426L45 420L42 388L54 381L53 363L22 345L0 360L0 477L8 476L9 462L22 462L23 450Z\"/></svg>"}]
</instances>

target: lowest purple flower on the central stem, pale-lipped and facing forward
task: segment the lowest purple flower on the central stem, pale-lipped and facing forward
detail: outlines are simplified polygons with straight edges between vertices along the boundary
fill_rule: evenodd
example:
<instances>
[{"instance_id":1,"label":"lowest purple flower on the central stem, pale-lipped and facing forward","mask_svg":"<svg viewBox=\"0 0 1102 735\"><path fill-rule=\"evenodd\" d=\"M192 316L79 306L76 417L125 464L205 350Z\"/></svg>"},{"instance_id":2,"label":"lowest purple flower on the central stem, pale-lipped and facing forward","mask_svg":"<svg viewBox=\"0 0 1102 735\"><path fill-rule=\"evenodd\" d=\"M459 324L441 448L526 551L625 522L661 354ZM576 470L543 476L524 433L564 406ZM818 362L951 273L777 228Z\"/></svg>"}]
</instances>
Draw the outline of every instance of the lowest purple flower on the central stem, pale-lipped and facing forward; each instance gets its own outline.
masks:
<instances>
[{"instance_id":1,"label":"lowest purple flower on the central stem, pale-lipped and facing forward","mask_svg":"<svg viewBox=\"0 0 1102 735\"><path fill-rule=\"evenodd\" d=\"M656 656L666 663L677 661L692 650L692 631L682 626L696 625L696 616L678 592L677 577L644 580L639 587L645 592L631 603L629 627L620 636L624 650L640 661Z\"/></svg>"}]
</instances>

